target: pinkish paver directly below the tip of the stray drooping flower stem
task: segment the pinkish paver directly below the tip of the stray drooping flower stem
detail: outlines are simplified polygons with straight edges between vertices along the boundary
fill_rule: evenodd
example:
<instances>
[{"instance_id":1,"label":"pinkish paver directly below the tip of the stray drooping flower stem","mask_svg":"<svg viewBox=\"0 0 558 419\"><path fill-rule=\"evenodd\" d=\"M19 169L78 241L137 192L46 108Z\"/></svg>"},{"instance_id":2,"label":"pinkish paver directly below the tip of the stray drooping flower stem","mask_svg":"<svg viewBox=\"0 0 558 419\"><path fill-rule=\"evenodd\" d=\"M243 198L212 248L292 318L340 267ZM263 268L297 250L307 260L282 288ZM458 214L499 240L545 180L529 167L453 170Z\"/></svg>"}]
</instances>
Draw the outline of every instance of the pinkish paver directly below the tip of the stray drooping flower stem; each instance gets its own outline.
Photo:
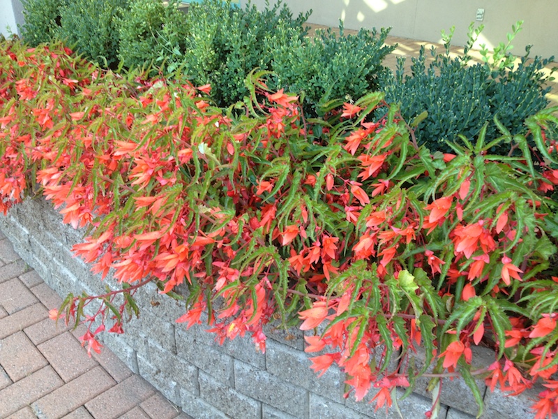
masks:
<instances>
[{"instance_id":1,"label":"pinkish paver directly below the tip of the stray drooping flower stem","mask_svg":"<svg viewBox=\"0 0 558 419\"><path fill-rule=\"evenodd\" d=\"M66 383L98 365L70 332L53 337L37 348Z\"/></svg>"}]
</instances>

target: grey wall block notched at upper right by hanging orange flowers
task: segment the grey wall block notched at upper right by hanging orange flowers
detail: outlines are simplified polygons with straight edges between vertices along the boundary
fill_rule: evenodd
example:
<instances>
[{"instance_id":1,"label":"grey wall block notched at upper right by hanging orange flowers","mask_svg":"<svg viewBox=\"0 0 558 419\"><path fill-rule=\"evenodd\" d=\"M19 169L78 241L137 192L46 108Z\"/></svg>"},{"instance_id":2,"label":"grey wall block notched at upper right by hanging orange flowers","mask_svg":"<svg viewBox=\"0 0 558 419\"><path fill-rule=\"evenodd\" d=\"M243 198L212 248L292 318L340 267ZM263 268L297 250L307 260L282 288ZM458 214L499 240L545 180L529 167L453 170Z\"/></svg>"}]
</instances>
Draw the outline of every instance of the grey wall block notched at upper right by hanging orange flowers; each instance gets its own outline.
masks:
<instances>
[{"instance_id":1,"label":"grey wall block notched at upper right by hanging orange flowers","mask_svg":"<svg viewBox=\"0 0 558 419\"><path fill-rule=\"evenodd\" d=\"M266 347L267 371L287 383L299 385L317 395L343 404L345 376L338 367L332 365L323 376L315 374L310 365L310 356L276 341L268 341Z\"/></svg>"}]
</instances>

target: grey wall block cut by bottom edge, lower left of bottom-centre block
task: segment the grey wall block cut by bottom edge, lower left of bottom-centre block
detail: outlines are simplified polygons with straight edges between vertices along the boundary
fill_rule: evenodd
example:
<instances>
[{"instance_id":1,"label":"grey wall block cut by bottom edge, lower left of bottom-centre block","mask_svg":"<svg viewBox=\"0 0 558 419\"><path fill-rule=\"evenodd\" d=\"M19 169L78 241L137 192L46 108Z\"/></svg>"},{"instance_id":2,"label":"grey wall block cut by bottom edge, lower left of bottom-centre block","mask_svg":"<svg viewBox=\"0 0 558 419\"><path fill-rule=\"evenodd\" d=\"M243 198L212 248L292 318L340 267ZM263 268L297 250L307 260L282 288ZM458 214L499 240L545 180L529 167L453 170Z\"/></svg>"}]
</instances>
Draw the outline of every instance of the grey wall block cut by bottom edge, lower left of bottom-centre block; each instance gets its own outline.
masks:
<instances>
[{"instance_id":1,"label":"grey wall block cut by bottom edge, lower left of bottom-centre block","mask_svg":"<svg viewBox=\"0 0 558 419\"><path fill-rule=\"evenodd\" d=\"M199 372L199 395L232 418L262 419L262 406L204 372Z\"/></svg>"}]
</instances>

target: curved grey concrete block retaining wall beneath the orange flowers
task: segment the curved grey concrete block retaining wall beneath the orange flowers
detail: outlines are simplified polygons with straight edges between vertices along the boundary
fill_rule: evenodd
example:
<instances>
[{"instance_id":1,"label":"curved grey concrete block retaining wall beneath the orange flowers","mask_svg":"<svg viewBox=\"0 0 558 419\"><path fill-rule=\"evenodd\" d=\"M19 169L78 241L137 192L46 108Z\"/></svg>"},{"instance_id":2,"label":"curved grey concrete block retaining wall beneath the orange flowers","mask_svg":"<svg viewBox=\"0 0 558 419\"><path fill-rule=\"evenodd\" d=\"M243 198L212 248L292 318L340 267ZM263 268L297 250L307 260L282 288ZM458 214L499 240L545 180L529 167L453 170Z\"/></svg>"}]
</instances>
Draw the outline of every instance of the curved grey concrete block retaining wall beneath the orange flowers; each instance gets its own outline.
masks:
<instances>
[{"instance_id":1,"label":"curved grey concrete block retaining wall beneath the orange flowers","mask_svg":"<svg viewBox=\"0 0 558 419\"><path fill-rule=\"evenodd\" d=\"M7 216L0 229L17 253L62 297L68 293L103 293L108 284L70 251L82 232L63 226L61 216L43 198L28 199ZM249 338L219 346L213 334L196 325L189 330L174 320L184 313L183 303L157 293L156 286L136 294L140 318L124 325L124 335L105 335L104 343L134 372L142 375L171 402L195 419L400 419L395 409L375 411L368 402L343 397L345 378L331 367L317 378L303 352L300 330L266 330L266 353L258 353ZM490 354L488 354L490 358ZM483 383L482 418L528 419L538 390L520 397L490 393ZM402 395L402 392L400 393ZM398 402L404 419L423 418L430 409L425 383ZM471 419L477 406L462 380L444 381L440 419Z\"/></svg>"}]
</instances>

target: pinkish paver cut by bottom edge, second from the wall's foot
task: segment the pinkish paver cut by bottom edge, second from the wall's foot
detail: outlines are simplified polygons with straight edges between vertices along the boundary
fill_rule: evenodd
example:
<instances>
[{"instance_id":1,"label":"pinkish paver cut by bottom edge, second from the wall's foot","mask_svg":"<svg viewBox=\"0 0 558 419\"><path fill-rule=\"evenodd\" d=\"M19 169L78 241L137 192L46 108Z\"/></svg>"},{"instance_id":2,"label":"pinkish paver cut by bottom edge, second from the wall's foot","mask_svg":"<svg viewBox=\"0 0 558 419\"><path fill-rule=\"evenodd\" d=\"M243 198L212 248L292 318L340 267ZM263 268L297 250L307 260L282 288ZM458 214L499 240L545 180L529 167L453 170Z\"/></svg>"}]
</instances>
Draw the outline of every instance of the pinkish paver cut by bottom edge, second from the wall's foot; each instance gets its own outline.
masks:
<instances>
[{"instance_id":1,"label":"pinkish paver cut by bottom edge, second from the wall's foot","mask_svg":"<svg viewBox=\"0 0 558 419\"><path fill-rule=\"evenodd\" d=\"M116 419L155 393L142 377L133 375L85 404L95 419Z\"/></svg>"}]
</instances>

